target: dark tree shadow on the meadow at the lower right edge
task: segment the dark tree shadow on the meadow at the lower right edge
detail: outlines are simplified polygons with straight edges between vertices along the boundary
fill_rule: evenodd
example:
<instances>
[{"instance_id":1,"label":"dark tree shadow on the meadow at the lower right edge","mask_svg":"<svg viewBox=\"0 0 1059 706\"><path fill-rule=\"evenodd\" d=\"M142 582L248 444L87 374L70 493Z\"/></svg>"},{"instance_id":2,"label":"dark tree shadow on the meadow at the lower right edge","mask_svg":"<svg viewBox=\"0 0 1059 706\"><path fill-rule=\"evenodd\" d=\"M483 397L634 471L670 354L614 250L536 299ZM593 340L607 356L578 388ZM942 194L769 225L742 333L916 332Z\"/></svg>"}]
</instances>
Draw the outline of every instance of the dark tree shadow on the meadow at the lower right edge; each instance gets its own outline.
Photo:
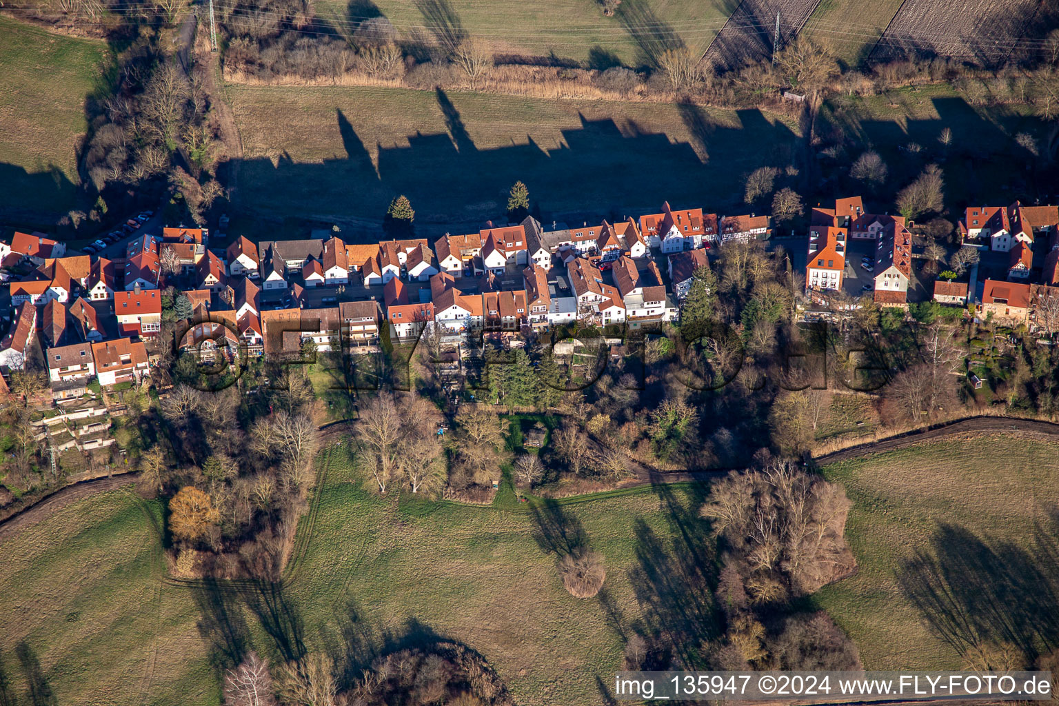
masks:
<instances>
[{"instance_id":1,"label":"dark tree shadow on the meadow at the lower right edge","mask_svg":"<svg viewBox=\"0 0 1059 706\"><path fill-rule=\"evenodd\" d=\"M1027 662L1059 647L1059 522L1036 524L1026 545L941 524L929 550L898 573L904 596L962 655L1010 645Z\"/></svg>"}]
</instances>

